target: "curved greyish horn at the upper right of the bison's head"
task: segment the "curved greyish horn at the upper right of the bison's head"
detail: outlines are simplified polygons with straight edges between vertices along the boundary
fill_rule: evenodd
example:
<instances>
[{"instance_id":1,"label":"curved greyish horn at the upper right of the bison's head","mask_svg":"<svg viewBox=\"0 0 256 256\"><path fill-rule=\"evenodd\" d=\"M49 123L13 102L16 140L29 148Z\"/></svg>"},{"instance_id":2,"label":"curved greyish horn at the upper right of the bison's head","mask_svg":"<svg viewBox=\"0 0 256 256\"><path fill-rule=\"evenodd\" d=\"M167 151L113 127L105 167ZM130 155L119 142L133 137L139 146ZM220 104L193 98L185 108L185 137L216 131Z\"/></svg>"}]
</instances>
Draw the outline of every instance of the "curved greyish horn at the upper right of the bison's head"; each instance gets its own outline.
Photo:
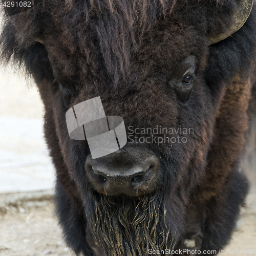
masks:
<instances>
[{"instance_id":1,"label":"curved greyish horn at the upper right of the bison's head","mask_svg":"<svg viewBox=\"0 0 256 256\"><path fill-rule=\"evenodd\" d=\"M245 24L247 18L250 15L253 0L236 0L236 8L231 13L229 20L232 20L230 24L230 28L228 31L221 32L219 34L208 34L208 39L210 41L210 45L216 44L219 41L222 41L232 35L234 32L237 32L242 26ZM218 15L215 13L215 15ZM225 24L224 22L222 22Z\"/></svg>"}]
</instances>

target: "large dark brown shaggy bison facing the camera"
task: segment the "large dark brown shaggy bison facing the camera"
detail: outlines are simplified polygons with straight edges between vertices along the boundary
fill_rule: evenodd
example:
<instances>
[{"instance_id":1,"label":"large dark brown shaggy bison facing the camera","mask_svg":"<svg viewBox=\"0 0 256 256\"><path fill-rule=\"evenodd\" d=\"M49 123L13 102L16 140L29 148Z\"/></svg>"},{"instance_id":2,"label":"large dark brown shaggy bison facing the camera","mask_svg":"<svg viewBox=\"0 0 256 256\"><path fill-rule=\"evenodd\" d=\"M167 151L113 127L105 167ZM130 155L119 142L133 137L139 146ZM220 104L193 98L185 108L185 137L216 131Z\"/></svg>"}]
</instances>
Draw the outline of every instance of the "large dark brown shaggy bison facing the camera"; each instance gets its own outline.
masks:
<instances>
[{"instance_id":1,"label":"large dark brown shaggy bison facing the camera","mask_svg":"<svg viewBox=\"0 0 256 256\"><path fill-rule=\"evenodd\" d=\"M56 212L77 255L216 254L228 243L248 189L239 158L255 82L252 5L4 5L2 62L25 67L45 104ZM123 118L127 143L93 159L86 139L69 137L66 112L97 97Z\"/></svg>"}]
</instances>

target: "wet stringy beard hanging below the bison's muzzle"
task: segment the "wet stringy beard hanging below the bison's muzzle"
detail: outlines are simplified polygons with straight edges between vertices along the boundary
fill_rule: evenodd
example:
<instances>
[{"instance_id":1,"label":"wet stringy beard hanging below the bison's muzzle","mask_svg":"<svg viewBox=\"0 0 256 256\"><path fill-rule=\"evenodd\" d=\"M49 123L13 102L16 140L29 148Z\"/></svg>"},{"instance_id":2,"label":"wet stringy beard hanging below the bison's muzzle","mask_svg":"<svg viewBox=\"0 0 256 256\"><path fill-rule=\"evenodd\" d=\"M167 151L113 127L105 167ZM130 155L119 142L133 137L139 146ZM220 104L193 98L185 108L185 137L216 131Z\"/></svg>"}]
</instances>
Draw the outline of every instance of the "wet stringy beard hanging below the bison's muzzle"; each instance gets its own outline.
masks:
<instances>
[{"instance_id":1,"label":"wet stringy beard hanging below the bison's muzzle","mask_svg":"<svg viewBox=\"0 0 256 256\"><path fill-rule=\"evenodd\" d=\"M87 202L86 216L92 238L105 256L145 256L148 249L173 249L176 242L160 195L138 199L95 193Z\"/></svg>"}]
</instances>

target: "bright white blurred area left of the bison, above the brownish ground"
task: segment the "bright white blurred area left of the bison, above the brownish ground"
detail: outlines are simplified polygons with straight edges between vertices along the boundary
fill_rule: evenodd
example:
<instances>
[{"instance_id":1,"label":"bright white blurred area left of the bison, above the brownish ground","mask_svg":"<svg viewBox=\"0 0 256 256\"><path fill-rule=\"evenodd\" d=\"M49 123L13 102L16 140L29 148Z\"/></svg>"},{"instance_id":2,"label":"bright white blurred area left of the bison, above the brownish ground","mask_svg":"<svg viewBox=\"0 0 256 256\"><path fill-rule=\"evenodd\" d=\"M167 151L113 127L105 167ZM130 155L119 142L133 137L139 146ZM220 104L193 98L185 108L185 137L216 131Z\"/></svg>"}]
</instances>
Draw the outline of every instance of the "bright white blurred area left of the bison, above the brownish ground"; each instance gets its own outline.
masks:
<instances>
[{"instance_id":1,"label":"bright white blurred area left of the bison, above the brownish ground","mask_svg":"<svg viewBox=\"0 0 256 256\"><path fill-rule=\"evenodd\" d=\"M0 91L0 193L52 188L54 167L36 87L10 70L0 70Z\"/></svg>"}]
</instances>

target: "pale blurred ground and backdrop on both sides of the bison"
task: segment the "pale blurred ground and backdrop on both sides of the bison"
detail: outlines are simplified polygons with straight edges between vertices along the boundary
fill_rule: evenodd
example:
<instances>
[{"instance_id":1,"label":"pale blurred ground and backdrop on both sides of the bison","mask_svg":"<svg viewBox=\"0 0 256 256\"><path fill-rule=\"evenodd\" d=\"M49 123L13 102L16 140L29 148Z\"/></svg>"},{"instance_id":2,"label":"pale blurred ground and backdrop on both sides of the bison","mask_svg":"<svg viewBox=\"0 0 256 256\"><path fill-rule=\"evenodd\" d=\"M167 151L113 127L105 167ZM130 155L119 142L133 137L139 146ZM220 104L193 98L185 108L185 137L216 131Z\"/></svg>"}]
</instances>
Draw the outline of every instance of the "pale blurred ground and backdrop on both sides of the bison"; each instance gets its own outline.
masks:
<instances>
[{"instance_id":1,"label":"pale blurred ground and backdrop on both sides of the bison","mask_svg":"<svg viewBox=\"0 0 256 256\"><path fill-rule=\"evenodd\" d=\"M43 105L35 84L17 73L0 69L0 255L74 255L54 215L55 173L42 129ZM256 253L255 132L256 125L241 163L251 183L247 207L225 254Z\"/></svg>"}]
</instances>

